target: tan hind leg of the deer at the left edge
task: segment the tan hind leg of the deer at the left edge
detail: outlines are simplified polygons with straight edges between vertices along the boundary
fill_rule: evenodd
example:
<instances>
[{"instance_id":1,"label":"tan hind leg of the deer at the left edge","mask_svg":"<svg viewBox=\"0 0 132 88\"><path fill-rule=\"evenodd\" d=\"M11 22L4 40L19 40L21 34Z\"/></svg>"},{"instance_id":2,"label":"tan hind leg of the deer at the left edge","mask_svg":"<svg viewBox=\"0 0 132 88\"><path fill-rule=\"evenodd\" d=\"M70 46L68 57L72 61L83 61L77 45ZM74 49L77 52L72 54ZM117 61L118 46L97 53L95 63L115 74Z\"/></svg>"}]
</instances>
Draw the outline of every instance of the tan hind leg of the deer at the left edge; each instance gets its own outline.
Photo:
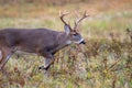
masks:
<instances>
[{"instance_id":1,"label":"tan hind leg of the deer at the left edge","mask_svg":"<svg viewBox=\"0 0 132 88\"><path fill-rule=\"evenodd\" d=\"M0 59L0 70L3 69L6 63L9 61L9 58L11 57L12 54L13 54L13 52L11 51L11 48L3 47L1 50L2 58Z\"/></svg>"}]
</instances>

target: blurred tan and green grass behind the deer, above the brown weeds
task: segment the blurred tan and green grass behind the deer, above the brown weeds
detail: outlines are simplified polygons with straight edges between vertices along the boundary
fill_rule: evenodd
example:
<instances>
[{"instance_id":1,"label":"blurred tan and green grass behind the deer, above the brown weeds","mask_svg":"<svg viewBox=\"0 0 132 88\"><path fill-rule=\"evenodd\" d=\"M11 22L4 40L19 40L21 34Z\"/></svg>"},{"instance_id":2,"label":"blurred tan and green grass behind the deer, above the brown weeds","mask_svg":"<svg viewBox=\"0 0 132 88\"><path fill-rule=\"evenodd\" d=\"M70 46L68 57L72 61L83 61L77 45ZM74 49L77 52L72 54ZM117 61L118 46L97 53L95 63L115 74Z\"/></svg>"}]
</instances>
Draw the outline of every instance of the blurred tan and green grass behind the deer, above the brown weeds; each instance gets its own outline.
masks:
<instances>
[{"instance_id":1,"label":"blurred tan and green grass behind the deer, above the brown weeds","mask_svg":"<svg viewBox=\"0 0 132 88\"><path fill-rule=\"evenodd\" d=\"M76 13L81 16L87 11L90 16L80 28L89 36L91 32L105 35L108 31L121 33L132 28L131 0L0 0L0 28L63 30L59 11L70 12L66 20L72 24Z\"/></svg>"}]
</instances>

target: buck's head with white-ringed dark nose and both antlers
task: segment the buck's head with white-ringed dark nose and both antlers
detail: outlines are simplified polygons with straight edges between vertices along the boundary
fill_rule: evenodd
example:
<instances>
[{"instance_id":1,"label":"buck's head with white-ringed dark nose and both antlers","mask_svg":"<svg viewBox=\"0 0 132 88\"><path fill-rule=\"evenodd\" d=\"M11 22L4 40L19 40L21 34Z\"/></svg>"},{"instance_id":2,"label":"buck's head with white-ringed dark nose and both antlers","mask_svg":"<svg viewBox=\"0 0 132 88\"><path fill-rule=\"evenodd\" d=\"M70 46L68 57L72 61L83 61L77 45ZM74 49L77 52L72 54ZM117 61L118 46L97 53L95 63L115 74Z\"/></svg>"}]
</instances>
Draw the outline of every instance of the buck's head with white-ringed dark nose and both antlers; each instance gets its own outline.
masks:
<instances>
[{"instance_id":1,"label":"buck's head with white-ringed dark nose and both antlers","mask_svg":"<svg viewBox=\"0 0 132 88\"><path fill-rule=\"evenodd\" d=\"M80 35L79 31L78 31L78 25L79 23L86 19L87 15L86 14L86 11L84 13L84 15L81 18L77 18L76 21L75 21L75 26L74 29L72 29L70 24L67 23L65 20L64 20L64 16L67 15L69 12L65 12L65 13L59 13L59 16L61 16L61 20L62 22L64 23L64 29L65 29L65 33L67 34L67 37L68 37L68 43L76 43L76 44L85 44L85 40L82 38L82 36Z\"/></svg>"}]
</instances>

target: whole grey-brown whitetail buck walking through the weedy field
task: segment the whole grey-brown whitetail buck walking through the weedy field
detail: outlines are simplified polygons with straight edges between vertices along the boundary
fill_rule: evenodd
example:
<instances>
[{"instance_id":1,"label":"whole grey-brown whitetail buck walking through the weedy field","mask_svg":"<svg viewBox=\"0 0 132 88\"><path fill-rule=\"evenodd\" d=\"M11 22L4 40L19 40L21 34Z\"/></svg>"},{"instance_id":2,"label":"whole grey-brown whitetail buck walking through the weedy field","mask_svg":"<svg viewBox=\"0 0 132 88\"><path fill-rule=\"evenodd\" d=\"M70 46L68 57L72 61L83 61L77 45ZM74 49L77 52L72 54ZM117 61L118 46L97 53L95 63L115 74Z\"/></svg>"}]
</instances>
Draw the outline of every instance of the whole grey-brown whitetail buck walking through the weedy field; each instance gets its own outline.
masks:
<instances>
[{"instance_id":1,"label":"whole grey-brown whitetail buck walking through the weedy field","mask_svg":"<svg viewBox=\"0 0 132 88\"><path fill-rule=\"evenodd\" d=\"M0 69L3 68L12 54L16 51L35 53L45 57L45 66L40 69L48 69L54 63L54 54L70 43L85 44L84 38L78 32L78 24L88 15L86 12L82 18L75 21L74 29L65 22L64 16L67 12L61 14L61 20L65 24L65 32L52 31L48 29L4 29L0 31Z\"/></svg>"}]
</instances>

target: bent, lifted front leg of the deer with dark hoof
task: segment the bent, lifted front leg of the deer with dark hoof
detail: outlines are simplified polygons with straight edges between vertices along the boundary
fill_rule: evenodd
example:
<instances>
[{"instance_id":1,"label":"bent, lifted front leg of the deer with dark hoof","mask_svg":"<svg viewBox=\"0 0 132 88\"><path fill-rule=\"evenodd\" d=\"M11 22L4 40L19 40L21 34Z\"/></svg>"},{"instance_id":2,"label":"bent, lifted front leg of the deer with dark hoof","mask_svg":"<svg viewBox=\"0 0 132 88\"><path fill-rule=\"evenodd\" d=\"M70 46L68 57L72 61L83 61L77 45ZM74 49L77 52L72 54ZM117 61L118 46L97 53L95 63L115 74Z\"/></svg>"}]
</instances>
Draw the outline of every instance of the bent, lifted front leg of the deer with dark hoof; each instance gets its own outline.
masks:
<instances>
[{"instance_id":1,"label":"bent, lifted front leg of the deer with dark hoof","mask_svg":"<svg viewBox=\"0 0 132 88\"><path fill-rule=\"evenodd\" d=\"M45 63L44 66L38 67L38 69L48 70L51 65L54 64L55 58L52 54L44 54L43 56L45 57Z\"/></svg>"}]
</instances>

